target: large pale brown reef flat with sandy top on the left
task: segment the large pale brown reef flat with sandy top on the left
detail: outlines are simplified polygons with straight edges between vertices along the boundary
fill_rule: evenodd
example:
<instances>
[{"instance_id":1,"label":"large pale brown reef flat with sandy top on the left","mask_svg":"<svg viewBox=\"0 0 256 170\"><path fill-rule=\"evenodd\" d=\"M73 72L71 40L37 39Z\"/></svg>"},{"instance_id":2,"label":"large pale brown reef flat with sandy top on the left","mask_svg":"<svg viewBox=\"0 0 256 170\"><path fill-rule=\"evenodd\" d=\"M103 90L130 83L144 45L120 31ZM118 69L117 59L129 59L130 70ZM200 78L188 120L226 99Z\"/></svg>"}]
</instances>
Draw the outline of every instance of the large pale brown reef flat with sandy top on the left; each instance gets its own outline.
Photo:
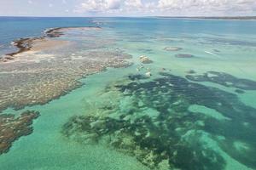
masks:
<instances>
[{"instance_id":1,"label":"large pale brown reef flat with sandy top on the left","mask_svg":"<svg viewBox=\"0 0 256 170\"><path fill-rule=\"evenodd\" d=\"M106 48L113 40L102 41L98 27L58 28L47 35L20 40L25 51L0 61L0 112L8 107L44 105L82 86L81 78L108 67L131 65L130 54Z\"/></svg>"}]
</instances>

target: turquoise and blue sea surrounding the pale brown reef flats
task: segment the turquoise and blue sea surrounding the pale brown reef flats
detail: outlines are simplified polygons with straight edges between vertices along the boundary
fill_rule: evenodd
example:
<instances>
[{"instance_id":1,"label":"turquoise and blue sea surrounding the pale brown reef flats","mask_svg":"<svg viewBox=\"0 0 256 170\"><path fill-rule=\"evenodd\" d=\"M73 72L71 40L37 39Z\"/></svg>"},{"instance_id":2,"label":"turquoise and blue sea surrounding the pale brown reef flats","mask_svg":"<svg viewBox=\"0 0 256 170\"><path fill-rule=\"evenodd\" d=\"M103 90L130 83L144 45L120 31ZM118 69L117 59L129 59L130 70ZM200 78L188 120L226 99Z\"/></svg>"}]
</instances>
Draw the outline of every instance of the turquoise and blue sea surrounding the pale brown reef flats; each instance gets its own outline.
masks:
<instances>
[{"instance_id":1,"label":"turquoise and blue sea surrounding the pale brown reef flats","mask_svg":"<svg viewBox=\"0 0 256 170\"><path fill-rule=\"evenodd\" d=\"M0 56L21 37L76 26L102 27L113 40L104 48L132 65L0 112L40 112L32 134L0 155L1 170L256 169L255 20L0 17ZM68 38L86 44L86 34Z\"/></svg>"}]
</instances>

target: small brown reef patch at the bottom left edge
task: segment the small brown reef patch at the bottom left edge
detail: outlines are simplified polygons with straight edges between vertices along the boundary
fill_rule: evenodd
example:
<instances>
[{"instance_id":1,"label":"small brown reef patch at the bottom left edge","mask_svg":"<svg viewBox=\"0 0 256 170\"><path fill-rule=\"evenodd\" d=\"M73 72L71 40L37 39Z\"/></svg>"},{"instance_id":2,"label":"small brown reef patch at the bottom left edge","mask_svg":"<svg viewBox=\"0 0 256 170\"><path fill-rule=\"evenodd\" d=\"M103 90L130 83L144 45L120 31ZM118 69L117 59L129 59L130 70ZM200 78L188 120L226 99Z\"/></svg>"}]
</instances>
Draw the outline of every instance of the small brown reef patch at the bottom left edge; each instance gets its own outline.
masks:
<instances>
[{"instance_id":1,"label":"small brown reef patch at the bottom left edge","mask_svg":"<svg viewBox=\"0 0 256 170\"><path fill-rule=\"evenodd\" d=\"M37 111L24 111L20 116L0 114L0 155L7 153L15 140L32 133L32 122L38 116Z\"/></svg>"}]
</instances>

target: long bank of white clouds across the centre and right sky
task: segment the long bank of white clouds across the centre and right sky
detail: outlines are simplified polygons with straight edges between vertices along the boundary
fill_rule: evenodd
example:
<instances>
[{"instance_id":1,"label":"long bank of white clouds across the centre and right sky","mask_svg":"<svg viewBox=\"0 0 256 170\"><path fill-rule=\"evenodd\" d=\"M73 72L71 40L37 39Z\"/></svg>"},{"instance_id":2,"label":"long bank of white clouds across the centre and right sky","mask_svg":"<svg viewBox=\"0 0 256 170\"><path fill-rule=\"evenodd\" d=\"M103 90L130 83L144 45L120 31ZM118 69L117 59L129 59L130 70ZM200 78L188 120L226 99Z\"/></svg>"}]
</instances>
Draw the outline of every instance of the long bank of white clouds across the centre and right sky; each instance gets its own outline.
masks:
<instances>
[{"instance_id":1,"label":"long bank of white clouds across the centre and right sky","mask_svg":"<svg viewBox=\"0 0 256 170\"><path fill-rule=\"evenodd\" d=\"M256 0L84 0L75 12L212 15L227 14L232 10L237 14L252 12L255 8Z\"/></svg>"}]
</instances>

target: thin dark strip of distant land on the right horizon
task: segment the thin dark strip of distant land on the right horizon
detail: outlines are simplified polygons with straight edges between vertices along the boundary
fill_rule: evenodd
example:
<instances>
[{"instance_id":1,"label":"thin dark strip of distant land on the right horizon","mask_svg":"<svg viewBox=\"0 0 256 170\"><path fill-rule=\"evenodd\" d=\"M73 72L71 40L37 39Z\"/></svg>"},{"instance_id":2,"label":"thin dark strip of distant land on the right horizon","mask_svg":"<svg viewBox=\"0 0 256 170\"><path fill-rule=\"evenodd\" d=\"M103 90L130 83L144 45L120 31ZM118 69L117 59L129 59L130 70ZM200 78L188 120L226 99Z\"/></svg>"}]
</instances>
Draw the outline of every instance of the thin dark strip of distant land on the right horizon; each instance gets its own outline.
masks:
<instances>
[{"instance_id":1,"label":"thin dark strip of distant land on the right horizon","mask_svg":"<svg viewBox=\"0 0 256 170\"><path fill-rule=\"evenodd\" d=\"M170 19L202 19L202 20L256 20L256 16L156 16L157 18Z\"/></svg>"}]
</instances>

